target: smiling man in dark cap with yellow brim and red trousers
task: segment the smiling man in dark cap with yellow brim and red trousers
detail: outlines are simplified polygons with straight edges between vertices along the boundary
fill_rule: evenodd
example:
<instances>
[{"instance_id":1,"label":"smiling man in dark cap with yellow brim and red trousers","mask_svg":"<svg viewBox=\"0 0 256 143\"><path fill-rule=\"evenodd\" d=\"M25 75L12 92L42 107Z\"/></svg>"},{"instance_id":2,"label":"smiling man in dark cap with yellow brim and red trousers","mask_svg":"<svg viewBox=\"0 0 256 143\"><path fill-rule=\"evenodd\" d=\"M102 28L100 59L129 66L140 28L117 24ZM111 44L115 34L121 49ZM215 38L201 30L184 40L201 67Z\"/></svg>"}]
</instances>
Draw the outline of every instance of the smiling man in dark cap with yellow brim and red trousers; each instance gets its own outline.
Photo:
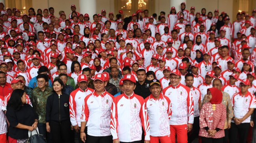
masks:
<instances>
[{"instance_id":1,"label":"smiling man in dark cap with yellow brim and red trousers","mask_svg":"<svg viewBox=\"0 0 256 143\"><path fill-rule=\"evenodd\" d=\"M151 143L171 143L169 119L172 114L171 101L161 93L160 81L151 80L151 95L145 99L145 107L149 114L150 142Z\"/></svg>"}]
</instances>

